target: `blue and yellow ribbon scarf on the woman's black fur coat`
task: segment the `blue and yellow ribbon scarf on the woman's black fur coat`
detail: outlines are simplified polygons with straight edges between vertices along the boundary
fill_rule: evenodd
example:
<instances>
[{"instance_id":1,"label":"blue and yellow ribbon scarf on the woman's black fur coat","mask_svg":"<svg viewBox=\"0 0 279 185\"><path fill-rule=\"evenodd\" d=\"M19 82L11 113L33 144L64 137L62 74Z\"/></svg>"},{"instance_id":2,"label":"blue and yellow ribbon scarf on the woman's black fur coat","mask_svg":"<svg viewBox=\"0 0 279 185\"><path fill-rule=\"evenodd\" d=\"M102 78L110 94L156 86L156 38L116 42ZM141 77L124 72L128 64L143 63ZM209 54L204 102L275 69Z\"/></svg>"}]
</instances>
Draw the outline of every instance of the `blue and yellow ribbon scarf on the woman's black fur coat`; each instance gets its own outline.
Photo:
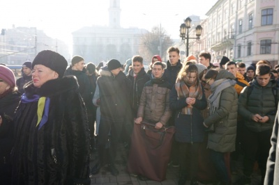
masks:
<instances>
[{"instance_id":1,"label":"blue and yellow ribbon scarf on the woman's black fur coat","mask_svg":"<svg viewBox=\"0 0 279 185\"><path fill-rule=\"evenodd\" d=\"M22 104L28 104L30 102L38 102L40 103L39 99L41 97L39 95L33 95L31 98L28 98L25 93L22 95L22 99L21 102ZM45 102L43 108L40 108L40 105L38 104L38 108L37 108L37 114L38 114L38 123L36 124L36 127L38 127L38 129L42 128L43 125L47 122L48 119L48 113L50 111L50 98L47 97L45 99ZM40 116L43 115L43 116Z\"/></svg>"}]
</instances>

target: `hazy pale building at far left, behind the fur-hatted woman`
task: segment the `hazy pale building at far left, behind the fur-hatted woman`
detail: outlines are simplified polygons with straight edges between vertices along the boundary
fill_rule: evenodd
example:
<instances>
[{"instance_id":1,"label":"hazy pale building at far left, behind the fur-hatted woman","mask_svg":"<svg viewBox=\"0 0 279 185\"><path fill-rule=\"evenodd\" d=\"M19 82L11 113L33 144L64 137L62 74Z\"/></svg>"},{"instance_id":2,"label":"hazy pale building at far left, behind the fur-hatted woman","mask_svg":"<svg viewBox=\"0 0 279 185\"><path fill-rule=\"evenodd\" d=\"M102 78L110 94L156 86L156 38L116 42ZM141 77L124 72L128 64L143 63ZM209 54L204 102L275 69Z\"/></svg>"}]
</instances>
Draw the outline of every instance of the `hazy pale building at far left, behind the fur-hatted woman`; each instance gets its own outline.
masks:
<instances>
[{"instance_id":1,"label":"hazy pale building at far left, behind the fur-hatted woman","mask_svg":"<svg viewBox=\"0 0 279 185\"><path fill-rule=\"evenodd\" d=\"M33 61L43 50L56 51L67 60L70 58L68 46L61 40L48 37L36 27L15 27L4 29L0 35L0 63L22 65Z\"/></svg>"}]
</instances>

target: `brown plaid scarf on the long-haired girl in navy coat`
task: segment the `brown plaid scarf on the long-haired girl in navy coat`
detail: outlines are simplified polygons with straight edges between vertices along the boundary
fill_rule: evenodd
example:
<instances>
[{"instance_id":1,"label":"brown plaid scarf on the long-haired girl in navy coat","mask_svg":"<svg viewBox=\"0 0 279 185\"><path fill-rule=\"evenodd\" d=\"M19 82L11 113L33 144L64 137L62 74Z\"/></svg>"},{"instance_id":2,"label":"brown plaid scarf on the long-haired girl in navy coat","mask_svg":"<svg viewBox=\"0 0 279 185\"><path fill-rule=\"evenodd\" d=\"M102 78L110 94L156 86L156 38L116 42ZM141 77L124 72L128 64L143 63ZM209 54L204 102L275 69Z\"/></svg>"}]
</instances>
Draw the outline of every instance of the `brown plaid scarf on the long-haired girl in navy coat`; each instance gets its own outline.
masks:
<instances>
[{"instance_id":1,"label":"brown plaid scarf on the long-haired girl in navy coat","mask_svg":"<svg viewBox=\"0 0 279 185\"><path fill-rule=\"evenodd\" d=\"M190 88L188 88L188 86L186 85L186 83L183 80L177 79L176 83L175 83L175 89L176 89L177 96L178 96L177 99L181 99L181 98L185 98L185 97L186 98L195 97L196 99L202 99L202 86L197 81L195 84L193 84L193 86L190 86ZM188 106L182 108L181 113L192 115L193 106L188 105Z\"/></svg>"}]
</instances>

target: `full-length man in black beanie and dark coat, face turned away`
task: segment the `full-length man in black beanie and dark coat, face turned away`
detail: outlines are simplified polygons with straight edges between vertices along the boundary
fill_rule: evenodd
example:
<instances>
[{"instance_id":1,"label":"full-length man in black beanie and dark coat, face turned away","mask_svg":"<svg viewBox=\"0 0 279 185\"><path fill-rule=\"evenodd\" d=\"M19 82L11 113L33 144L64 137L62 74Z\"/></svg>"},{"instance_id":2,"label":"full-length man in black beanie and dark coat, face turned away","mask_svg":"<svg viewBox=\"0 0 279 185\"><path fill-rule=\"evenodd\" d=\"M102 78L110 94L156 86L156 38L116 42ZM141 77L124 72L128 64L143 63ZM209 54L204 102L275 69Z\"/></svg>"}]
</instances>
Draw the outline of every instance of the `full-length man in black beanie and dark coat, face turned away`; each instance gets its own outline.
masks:
<instances>
[{"instance_id":1,"label":"full-length man in black beanie and dark coat, face turned away","mask_svg":"<svg viewBox=\"0 0 279 185\"><path fill-rule=\"evenodd\" d=\"M127 108L130 108L130 80L121 71L121 63L112 59L107 63L109 71L101 71L97 84L100 91L100 127L98 152L104 156L105 148L109 152L109 167L112 175L119 171L114 165L117 143L126 120ZM102 161L101 161L102 162Z\"/></svg>"}]
</instances>

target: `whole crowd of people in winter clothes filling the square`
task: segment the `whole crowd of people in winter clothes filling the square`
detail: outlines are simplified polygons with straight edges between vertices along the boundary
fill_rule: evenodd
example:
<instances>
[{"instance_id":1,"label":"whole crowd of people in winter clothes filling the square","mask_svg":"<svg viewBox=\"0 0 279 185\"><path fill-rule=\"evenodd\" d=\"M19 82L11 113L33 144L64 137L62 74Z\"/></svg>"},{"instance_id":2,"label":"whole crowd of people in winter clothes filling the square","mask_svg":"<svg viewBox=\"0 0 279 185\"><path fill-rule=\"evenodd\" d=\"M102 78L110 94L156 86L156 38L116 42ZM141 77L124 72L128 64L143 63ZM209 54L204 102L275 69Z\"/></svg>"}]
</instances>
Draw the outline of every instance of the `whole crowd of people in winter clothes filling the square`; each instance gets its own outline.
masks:
<instances>
[{"instance_id":1,"label":"whole crowd of people in winter clothes filling the square","mask_svg":"<svg viewBox=\"0 0 279 185\"><path fill-rule=\"evenodd\" d=\"M179 54L169 47L169 60L153 56L146 72L139 55L97 67L73 56L67 68L63 56L45 50L17 80L1 64L0 184L90 184L94 152L119 175L119 142L130 149L142 122L176 128L169 165L179 167L180 185L232 184L240 156L235 184L251 183L255 163L262 184L278 182L279 65L246 67L226 56L213 64L206 52L181 61ZM146 173L130 175L145 180Z\"/></svg>"}]
</instances>

